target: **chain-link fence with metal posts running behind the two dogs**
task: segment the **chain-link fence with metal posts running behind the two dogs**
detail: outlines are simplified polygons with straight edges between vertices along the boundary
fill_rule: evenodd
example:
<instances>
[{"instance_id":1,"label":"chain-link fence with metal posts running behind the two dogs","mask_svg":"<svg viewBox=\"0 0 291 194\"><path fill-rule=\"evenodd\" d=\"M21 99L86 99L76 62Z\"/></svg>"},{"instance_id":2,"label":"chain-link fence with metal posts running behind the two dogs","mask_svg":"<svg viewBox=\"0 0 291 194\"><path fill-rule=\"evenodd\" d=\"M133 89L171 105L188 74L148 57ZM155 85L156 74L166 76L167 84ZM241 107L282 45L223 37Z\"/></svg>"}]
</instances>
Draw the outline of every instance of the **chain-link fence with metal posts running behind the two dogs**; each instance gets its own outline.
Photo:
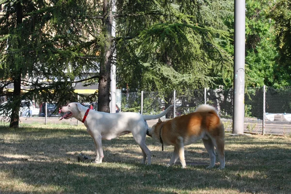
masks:
<instances>
[{"instance_id":1,"label":"chain-link fence with metal posts running behind the two dogs","mask_svg":"<svg viewBox=\"0 0 291 194\"><path fill-rule=\"evenodd\" d=\"M118 94L119 95L119 94ZM158 114L168 106L174 105L162 119L171 119L187 113L192 113L200 104L215 107L225 128L232 131L233 89L196 89L183 92L173 91L168 95L158 92L126 92L121 93L120 112L136 112L142 114ZM119 99L119 98L118 98ZM7 103L6 97L0 98L0 104ZM59 121L63 115L56 103L22 102L20 122L44 122L78 124L75 118ZM84 103L88 108L95 103ZM275 89L272 87L248 88L244 96L244 131L261 134L291 134L291 87ZM3 113L0 113L3 116ZM6 110L9 115L9 110ZM8 117L9 118L9 117ZM1 119L3 121L3 118ZM152 126L157 120L148 121Z\"/></svg>"}]
</instances>

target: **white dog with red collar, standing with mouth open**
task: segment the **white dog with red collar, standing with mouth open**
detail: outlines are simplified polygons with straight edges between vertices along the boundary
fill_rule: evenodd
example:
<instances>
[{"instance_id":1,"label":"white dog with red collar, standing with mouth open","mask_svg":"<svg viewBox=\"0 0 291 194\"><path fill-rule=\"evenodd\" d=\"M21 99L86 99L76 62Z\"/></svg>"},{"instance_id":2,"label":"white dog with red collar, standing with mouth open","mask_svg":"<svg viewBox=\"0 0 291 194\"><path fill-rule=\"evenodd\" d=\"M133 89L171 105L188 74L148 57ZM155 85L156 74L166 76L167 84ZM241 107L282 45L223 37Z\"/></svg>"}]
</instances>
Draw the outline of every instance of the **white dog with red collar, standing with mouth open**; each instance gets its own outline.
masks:
<instances>
[{"instance_id":1,"label":"white dog with red collar, standing with mouth open","mask_svg":"<svg viewBox=\"0 0 291 194\"><path fill-rule=\"evenodd\" d=\"M90 110L80 103L72 102L67 106L61 107L61 111L66 113L63 118L75 117L87 128L88 133L94 139L96 146L96 163L101 163L104 158L102 149L102 139L111 140L121 135L132 133L133 139L140 146L143 152L145 164L151 163L151 153L146 146L146 130L148 125L146 120L161 118L169 112L171 105L165 111L157 115L142 115L139 113L104 113Z\"/></svg>"}]
</instances>

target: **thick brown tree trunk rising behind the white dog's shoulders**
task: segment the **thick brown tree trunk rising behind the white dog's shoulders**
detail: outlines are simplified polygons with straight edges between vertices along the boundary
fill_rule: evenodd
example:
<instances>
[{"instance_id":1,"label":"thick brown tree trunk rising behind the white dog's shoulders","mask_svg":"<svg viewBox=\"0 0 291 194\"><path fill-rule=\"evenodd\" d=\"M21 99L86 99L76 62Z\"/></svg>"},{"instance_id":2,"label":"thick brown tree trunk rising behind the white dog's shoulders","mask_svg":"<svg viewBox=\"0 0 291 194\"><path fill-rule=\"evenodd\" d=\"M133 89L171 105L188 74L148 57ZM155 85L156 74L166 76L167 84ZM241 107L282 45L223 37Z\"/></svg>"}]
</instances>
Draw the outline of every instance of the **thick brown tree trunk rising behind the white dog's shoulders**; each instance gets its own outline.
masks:
<instances>
[{"instance_id":1,"label":"thick brown tree trunk rising behind the white dog's shoulders","mask_svg":"<svg viewBox=\"0 0 291 194\"><path fill-rule=\"evenodd\" d=\"M110 113L110 71L111 71L111 47L112 47L112 12L107 0L103 0L103 26L105 26L106 42L101 51L99 86L98 86L98 111Z\"/></svg>"}]
</instances>

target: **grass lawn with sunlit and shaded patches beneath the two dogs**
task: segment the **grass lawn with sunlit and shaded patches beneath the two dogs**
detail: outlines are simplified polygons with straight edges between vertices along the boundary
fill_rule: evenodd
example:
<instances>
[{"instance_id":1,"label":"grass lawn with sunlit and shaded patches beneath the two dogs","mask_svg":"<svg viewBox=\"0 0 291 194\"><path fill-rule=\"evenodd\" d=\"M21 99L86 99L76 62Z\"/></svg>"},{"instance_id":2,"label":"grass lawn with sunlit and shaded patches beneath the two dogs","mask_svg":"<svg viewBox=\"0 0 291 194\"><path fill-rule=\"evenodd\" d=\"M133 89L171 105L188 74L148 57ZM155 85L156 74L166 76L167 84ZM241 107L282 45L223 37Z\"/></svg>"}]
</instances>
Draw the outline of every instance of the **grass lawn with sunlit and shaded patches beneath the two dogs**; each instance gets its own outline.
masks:
<instances>
[{"instance_id":1,"label":"grass lawn with sunlit and shaded patches beneath the two dogs","mask_svg":"<svg viewBox=\"0 0 291 194\"><path fill-rule=\"evenodd\" d=\"M226 169L206 169L202 141L185 147L187 168L166 168L173 147L146 144L152 165L132 135L103 140L101 164L77 162L82 152L95 157L84 127L22 125L0 127L0 194L290 194L290 136L229 136ZM217 160L216 160L217 161Z\"/></svg>"}]
</instances>

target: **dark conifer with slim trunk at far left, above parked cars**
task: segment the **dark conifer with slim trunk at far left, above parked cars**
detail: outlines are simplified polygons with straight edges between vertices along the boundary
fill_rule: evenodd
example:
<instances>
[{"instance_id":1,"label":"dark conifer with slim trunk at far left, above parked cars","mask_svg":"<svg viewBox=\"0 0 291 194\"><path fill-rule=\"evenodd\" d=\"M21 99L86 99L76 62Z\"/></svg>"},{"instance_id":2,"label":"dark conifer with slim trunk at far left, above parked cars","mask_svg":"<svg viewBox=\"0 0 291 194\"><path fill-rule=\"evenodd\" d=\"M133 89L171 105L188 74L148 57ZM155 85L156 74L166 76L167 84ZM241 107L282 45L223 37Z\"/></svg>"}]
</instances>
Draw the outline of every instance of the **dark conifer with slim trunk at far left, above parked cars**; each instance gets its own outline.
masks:
<instances>
[{"instance_id":1,"label":"dark conifer with slim trunk at far left, above parked cars","mask_svg":"<svg viewBox=\"0 0 291 194\"><path fill-rule=\"evenodd\" d=\"M97 70L96 52L90 49L94 42L88 42L86 37L89 28L84 21L90 10L86 0L1 3L1 96L8 95L13 101L5 108L12 109L11 127L18 127L21 99L34 97L59 104L75 99L72 82L83 77L82 72ZM13 94L4 94L11 83ZM22 86L28 90L20 93Z\"/></svg>"}]
</instances>

